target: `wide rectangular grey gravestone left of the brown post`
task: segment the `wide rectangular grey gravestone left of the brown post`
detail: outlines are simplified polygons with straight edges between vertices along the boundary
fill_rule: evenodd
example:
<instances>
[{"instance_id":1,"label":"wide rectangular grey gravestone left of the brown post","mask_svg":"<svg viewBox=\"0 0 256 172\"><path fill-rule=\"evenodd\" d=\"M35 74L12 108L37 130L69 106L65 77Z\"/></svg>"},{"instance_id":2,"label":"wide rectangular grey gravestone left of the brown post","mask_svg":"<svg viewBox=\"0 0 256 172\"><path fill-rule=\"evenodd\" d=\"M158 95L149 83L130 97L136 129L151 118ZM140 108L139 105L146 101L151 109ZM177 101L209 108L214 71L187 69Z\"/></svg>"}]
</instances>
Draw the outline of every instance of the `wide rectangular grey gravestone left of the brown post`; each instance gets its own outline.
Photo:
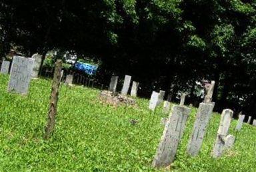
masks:
<instances>
[{"instance_id":1,"label":"wide rectangular grey gravestone left of the brown post","mask_svg":"<svg viewBox=\"0 0 256 172\"><path fill-rule=\"evenodd\" d=\"M10 80L7 91L26 95L33 71L34 59L20 56L13 57Z\"/></svg>"}]
</instances>

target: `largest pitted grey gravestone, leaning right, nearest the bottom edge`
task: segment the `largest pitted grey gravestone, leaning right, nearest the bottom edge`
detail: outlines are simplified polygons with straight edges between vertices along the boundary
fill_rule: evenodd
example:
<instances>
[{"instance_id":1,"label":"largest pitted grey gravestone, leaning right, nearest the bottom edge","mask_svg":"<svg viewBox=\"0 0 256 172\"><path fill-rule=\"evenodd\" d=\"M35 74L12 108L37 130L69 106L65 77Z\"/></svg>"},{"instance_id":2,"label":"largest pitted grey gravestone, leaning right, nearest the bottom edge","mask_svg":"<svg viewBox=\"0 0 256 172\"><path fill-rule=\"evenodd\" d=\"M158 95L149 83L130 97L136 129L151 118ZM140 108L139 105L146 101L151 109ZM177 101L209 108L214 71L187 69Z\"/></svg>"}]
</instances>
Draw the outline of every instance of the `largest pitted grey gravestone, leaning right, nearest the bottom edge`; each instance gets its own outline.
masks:
<instances>
[{"instance_id":1,"label":"largest pitted grey gravestone, leaning right, nearest the bottom edge","mask_svg":"<svg viewBox=\"0 0 256 172\"><path fill-rule=\"evenodd\" d=\"M173 106L153 160L153 167L167 167L173 162L190 112L188 107Z\"/></svg>"}]
</instances>

